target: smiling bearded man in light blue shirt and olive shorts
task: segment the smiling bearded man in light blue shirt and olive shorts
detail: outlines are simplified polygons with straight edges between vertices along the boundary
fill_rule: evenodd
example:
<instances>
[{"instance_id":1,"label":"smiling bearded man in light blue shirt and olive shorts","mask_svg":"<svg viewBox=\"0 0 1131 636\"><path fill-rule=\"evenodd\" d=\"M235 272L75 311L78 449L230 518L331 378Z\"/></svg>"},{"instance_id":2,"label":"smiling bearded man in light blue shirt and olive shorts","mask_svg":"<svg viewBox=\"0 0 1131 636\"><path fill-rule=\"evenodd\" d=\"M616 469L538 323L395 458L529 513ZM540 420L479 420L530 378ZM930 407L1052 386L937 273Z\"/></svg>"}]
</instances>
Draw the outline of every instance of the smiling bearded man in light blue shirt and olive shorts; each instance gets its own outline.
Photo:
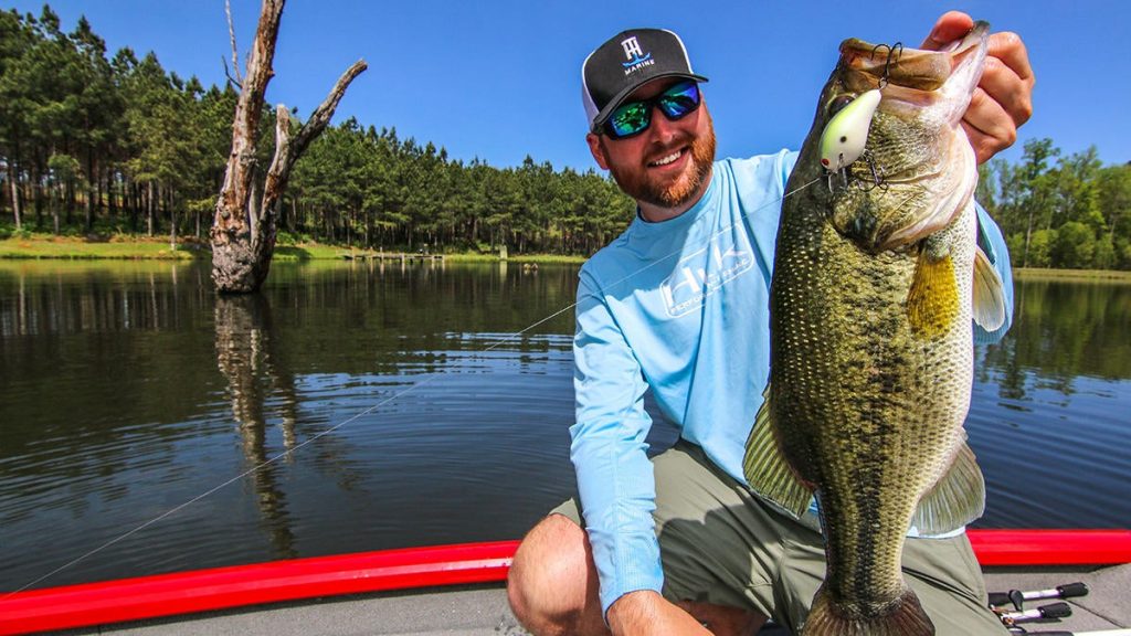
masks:
<instances>
[{"instance_id":1,"label":"smiling bearded man in light blue shirt and olive shorts","mask_svg":"<svg viewBox=\"0 0 1131 636\"><path fill-rule=\"evenodd\" d=\"M947 14L924 48L972 25ZM964 121L979 162L1031 111L1024 44L995 34L988 53ZM580 275L570 432L584 522L567 502L515 557L511 607L535 634L753 634L769 616L796 629L823 576L812 519L770 510L741 465L768 376L770 268L796 155L714 162L705 80L679 37L656 29L613 37L582 68L589 148L639 209ZM1000 231L984 214L979 224L1011 306ZM709 285L696 274L707 258ZM647 390L681 428L651 461ZM904 566L940 634L1005 633L965 534L909 539Z\"/></svg>"}]
</instances>

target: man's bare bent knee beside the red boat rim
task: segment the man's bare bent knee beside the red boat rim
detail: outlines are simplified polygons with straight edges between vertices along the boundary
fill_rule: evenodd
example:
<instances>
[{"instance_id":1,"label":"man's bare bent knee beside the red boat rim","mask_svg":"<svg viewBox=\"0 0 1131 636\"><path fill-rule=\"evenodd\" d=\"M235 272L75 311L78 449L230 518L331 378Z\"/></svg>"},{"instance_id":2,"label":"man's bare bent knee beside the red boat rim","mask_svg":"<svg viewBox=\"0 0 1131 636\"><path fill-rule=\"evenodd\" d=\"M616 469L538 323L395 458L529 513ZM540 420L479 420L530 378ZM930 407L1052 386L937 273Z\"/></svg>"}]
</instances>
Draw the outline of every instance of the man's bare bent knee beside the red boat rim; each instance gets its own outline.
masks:
<instances>
[{"instance_id":1,"label":"man's bare bent knee beside the red boat rim","mask_svg":"<svg viewBox=\"0 0 1131 636\"><path fill-rule=\"evenodd\" d=\"M562 515L534 526L515 552L507 578L511 611L535 634L586 633L603 627L597 576L585 531Z\"/></svg>"}]
</instances>

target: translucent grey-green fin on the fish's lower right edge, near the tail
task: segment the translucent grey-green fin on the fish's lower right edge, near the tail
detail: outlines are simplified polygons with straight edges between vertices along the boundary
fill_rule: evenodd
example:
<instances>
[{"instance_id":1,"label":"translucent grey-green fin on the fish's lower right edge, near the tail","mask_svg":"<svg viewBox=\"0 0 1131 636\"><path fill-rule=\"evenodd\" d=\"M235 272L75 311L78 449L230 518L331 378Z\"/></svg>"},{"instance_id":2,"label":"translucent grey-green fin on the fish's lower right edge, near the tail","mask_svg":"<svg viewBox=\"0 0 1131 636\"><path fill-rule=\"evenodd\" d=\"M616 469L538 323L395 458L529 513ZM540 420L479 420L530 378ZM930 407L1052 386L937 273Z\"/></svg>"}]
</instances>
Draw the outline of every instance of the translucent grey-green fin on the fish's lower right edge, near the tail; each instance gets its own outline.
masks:
<instances>
[{"instance_id":1,"label":"translucent grey-green fin on the fish's lower right edge, near the tail","mask_svg":"<svg viewBox=\"0 0 1131 636\"><path fill-rule=\"evenodd\" d=\"M982 516L986 484L974 452L965 441L947 473L920 500L912 525L921 534L953 532Z\"/></svg>"}]
</instances>

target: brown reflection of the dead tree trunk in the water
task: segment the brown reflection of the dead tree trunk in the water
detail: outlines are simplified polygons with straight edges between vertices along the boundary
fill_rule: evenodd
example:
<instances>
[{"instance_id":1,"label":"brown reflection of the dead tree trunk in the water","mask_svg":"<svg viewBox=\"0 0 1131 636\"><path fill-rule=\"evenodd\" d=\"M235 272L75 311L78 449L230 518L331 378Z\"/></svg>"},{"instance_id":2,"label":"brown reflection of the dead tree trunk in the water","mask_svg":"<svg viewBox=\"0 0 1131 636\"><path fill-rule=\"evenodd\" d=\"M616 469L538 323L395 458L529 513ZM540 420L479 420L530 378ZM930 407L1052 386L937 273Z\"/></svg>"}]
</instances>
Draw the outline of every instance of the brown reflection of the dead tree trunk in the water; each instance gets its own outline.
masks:
<instances>
[{"instance_id":1,"label":"brown reflection of the dead tree trunk in the water","mask_svg":"<svg viewBox=\"0 0 1131 636\"><path fill-rule=\"evenodd\" d=\"M287 513L286 495L278 485L275 462L267 448L268 396L282 402L285 457L295 447L299 398L294 376L286 369L275 346L270 302L264 294L216 298L216 363L227 379L227 393L241 438L244 461L256 491L256 506L270 536L276 558L294 558L294 532Z\"/></svg>"}]
</instances>

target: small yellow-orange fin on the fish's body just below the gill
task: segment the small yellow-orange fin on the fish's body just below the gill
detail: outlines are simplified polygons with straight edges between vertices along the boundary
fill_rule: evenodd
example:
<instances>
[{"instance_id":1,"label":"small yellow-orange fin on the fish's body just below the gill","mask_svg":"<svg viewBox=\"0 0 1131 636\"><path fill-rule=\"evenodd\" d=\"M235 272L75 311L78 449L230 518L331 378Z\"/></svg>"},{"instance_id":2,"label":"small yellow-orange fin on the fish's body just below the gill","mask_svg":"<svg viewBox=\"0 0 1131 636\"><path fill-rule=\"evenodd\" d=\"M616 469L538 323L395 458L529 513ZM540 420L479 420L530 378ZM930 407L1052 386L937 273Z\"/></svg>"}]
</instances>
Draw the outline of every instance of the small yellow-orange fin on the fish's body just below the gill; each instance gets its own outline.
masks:
<instances>
[{"instance_id":1,"label":"small yellow-orange fin on the fish's body just below the gill","mask_svg":"<svg viewBox=\"0 0 1131 636\"><path fill-rule=\"evenodd\" d=\"M907 320L916 335L926 338L950 330L959 313L955 261L949 252L935 257L930 251L920 252L907 291Z\"/></svg>"}]
</instances>

